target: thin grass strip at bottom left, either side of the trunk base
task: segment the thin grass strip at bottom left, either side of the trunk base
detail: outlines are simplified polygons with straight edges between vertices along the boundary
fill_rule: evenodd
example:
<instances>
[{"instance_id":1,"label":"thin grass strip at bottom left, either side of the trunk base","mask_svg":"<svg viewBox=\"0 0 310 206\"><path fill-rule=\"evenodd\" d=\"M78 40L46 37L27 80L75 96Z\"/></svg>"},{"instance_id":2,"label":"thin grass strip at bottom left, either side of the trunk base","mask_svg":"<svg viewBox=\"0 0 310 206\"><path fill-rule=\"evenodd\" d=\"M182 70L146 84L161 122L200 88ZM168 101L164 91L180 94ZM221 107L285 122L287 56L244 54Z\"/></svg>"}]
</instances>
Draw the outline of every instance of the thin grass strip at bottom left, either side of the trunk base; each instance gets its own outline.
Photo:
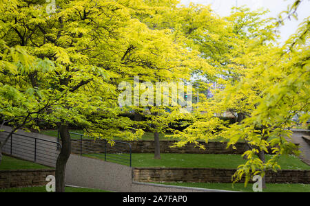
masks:
<instances>
[{"instance_id":1,"label":"thin grass strip at bottom left, either side of the trunk base","mask_svg":"<svg viewBox=\"0 0 310 206\"><path fill-rule=\"evenodd\" d=\"M18 187L0 189L0 192L46 192L45 186L42 187ZM78 188L78 187L65 187L65 192L108 192L99 189Z\"/></svg>"}]
</instances>

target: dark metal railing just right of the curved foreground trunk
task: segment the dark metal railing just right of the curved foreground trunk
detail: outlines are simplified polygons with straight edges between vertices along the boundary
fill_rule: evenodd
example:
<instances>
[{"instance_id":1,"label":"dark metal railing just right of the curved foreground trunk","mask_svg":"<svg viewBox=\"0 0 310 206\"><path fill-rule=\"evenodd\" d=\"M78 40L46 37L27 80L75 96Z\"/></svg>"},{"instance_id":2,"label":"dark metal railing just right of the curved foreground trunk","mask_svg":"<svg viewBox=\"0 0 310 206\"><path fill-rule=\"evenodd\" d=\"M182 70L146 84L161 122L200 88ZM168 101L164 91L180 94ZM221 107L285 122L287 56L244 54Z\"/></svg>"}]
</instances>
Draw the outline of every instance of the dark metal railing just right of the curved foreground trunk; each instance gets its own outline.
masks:
<instances>
[{"instance_id":1,"label":"dark metal railing just right of the curved foreground trunk","mask_svg":"<svg viewBox=\"0 0 310 206\"><path fill-rule=\"evenodd\" d=\"M59 139L59 133L58 133ZM95 157L104 161L132 166L132 146L124 141L96 139L70 132L72 153L85 157Z\"/></svg>"}]
</instances>

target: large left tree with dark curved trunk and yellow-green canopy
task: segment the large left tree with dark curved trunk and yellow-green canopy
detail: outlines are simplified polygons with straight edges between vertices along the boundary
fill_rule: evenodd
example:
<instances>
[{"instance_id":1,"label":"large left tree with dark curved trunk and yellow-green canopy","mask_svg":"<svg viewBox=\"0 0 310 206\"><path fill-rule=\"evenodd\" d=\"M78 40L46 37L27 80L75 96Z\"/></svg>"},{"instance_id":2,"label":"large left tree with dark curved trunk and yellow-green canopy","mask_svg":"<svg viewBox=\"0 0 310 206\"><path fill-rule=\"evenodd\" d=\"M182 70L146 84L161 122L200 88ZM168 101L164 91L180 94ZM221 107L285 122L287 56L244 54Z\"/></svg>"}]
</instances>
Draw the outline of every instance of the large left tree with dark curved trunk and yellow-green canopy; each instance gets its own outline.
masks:
<instances>
[{"instance_id":1,"label":"large left tree with dark curved trunk and yellow-green canopy","mask_svg":"<svg viewBox=\"0 0 310 206\"><path fill-rule=\"evenodd\" d=\"M120 115L118 84L136 75L170 81L185 76L189 67L204 67L197 52L174 42L172 32L151 30L134 18L131 6L140 1L134 3L57 1L55 12L46 13L45 1L3 2L3 124L12 132L39 129L39 121L59 127L56 192L64 192L70 124L96 138L135 139L142 133L132 134L133 123Z\"/></svg>"}]
</instances>

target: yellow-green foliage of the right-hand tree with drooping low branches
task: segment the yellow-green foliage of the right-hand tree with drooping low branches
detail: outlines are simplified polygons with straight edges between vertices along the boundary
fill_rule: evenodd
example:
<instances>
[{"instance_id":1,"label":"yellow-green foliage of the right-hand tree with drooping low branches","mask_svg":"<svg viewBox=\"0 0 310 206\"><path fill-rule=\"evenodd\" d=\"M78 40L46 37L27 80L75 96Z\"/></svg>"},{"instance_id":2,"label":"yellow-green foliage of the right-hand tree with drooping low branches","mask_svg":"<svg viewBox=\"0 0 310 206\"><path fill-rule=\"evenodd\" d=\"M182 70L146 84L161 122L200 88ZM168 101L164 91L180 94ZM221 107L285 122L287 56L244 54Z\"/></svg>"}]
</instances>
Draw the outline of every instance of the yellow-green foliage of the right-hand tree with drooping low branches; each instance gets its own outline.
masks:
<instances>
[{"instance_id":1,"label":"yellow-green foliage of the right-hand tree with drooping low branches","mask_svg":"<svg viewBox=\"0 0 310 206\"><path fill-rule=\"evenodd\" d=\"M298 5L300 1L293 3L286 13L294 14ZM243 12L238 16L240 14L247 16ZM207 111L206 114L198 111L194 124L174 135L181 140L176 146L187 142L198 144L198 139L209 141L218 137L226 137L227 146L233 147L237 141L245 141L250 148L243 155L247 163L238 167L234 182L242 176L245 176L246 184L253 175L265 177L267 170L280 168L280 155L298 155L297 146L285 137L291 135L288 128L294 115L301 115L300 122L309 119L309 19L305 19L297 34L283 47L272 43L279 22L282 20L273 24L267 22L262 27L264 32L257 27L256 32L251 32L255 34L253 38L241 33L247 43L232 51L238 56L229 59L230 71L224 70L225 78L218 80L223 89L215 91L213 99L200 102L200 111ZM238 123L225 126L214 116L214 113L225 111L237 113ZM268 147L273 156L265 161Z\"/></svg>"}]
</instances>

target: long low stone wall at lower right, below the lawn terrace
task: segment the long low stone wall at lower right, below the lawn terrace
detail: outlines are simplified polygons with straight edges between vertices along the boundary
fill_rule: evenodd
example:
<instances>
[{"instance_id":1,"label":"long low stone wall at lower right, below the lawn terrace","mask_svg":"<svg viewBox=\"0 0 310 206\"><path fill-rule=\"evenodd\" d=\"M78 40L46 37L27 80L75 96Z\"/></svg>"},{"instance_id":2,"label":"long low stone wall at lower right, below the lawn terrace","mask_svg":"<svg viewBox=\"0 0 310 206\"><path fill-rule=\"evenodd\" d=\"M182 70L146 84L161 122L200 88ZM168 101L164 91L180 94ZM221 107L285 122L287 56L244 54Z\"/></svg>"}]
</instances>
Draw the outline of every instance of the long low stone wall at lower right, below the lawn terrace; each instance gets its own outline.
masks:
<instances>
[{"instance_id":1,"label":"long low stone wall at lower right, below the lawn terrace","mask_svg":"<svg viewBox=\"0 0 310 206\"><path fill-rule=\"evenodd\" d=\"M235 169L216 168L134 168L134 181L231 183ZM267 183L310 183L310 170L281 170L267 172ZM241 181L241 182L244 182Z\"/></svg>"}]
</instances>

